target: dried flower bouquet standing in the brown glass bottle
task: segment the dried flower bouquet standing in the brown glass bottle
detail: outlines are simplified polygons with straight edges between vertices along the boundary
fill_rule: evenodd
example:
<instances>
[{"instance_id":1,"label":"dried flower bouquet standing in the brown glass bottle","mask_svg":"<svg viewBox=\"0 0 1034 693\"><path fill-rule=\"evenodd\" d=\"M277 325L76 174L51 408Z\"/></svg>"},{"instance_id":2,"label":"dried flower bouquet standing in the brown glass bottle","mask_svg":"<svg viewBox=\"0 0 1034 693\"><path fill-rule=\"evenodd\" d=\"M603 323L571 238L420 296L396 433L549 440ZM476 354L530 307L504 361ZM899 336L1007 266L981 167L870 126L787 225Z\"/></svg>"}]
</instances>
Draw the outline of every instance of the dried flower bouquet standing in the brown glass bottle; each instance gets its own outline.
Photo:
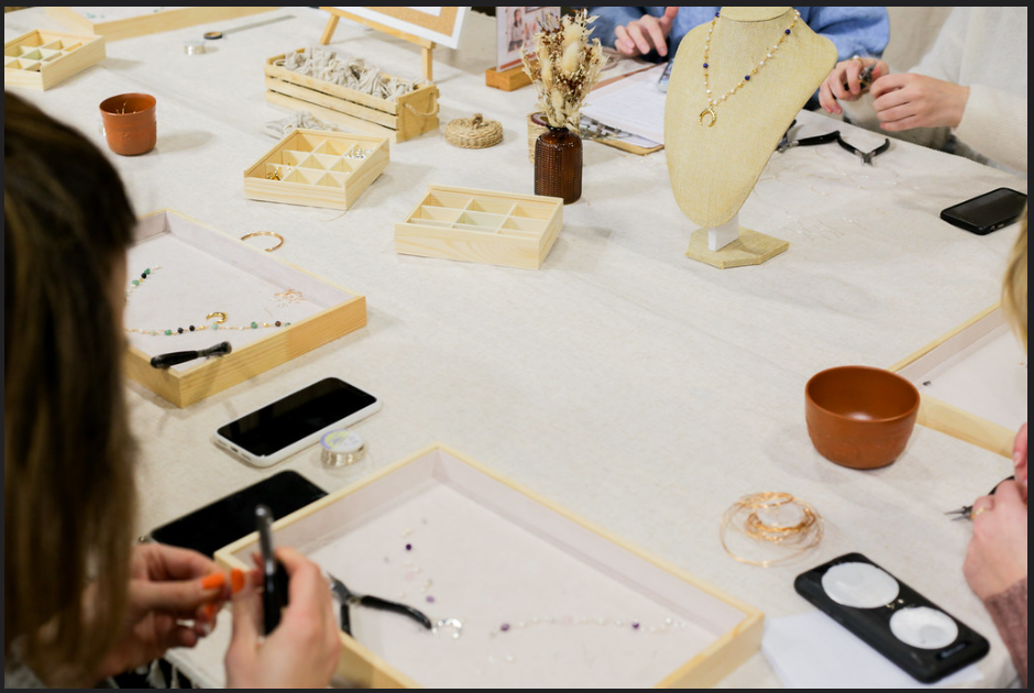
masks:
<instances>
[{"instance_id":1,"label":"dried flower bouquet standing in the brown glass bottle","mask_svg":"<svg viewBox=\"0 0 1034 693\"><path fill-rule=\"evenodd\" d=\"M525 73L539 94L539 103L553 128L579 131L585 97L600 80L607 56L598 38L590 40L596 20L578 10L557 20L551 15L535 34L535 51L520 51Z\"/></svg>"}]
</instances>

